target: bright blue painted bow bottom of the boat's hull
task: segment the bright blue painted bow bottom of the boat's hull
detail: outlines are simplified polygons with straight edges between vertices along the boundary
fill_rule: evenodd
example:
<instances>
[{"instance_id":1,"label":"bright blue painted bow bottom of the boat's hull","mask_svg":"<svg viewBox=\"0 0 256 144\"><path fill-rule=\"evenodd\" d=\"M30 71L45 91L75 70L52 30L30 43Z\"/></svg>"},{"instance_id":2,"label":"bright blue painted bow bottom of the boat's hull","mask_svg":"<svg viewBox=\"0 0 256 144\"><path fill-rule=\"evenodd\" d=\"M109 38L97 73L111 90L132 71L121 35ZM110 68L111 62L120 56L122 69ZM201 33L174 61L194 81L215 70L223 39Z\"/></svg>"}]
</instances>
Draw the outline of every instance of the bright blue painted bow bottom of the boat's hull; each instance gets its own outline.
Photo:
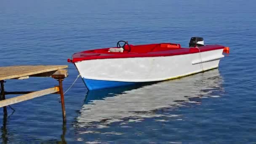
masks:
<instances>
[{"instance_id":1,"label":"bright blue painted bow bottom of the boat's hull","mask_svg":"<svg viewBox=\"0 0 256 144\"><path fill-rule=\"evenodd\" d=\"M109 81L109 80L92 80L83 78L83 82L85 83L88 90L96 90L102 88L113 88L118 86L125 86L125 85L134 85L139 84L136 82L118 82L118 81Z\"/></svg>"}]
</instances>

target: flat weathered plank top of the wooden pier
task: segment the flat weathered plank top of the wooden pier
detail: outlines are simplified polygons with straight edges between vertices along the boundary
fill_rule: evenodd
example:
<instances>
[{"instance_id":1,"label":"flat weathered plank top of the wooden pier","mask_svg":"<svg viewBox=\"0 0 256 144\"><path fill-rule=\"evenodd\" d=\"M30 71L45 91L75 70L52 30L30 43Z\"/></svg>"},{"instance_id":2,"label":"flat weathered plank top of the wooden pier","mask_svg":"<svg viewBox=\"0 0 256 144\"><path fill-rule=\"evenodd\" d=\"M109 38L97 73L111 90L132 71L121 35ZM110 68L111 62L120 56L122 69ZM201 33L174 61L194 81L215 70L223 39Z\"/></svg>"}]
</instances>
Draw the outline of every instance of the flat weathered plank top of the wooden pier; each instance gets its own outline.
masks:
<instances>
[{"instance_id":1,"label":"flat weathered plank top of the wooden pier","mask_svg":"<svg viewBox=\"0 0 256 144\"><path fill-rule=\"evenodd\" d=\"M11 66L0 67L0 80L36 75L67 68L67 65Z\"/></svg>"}]
</instances>

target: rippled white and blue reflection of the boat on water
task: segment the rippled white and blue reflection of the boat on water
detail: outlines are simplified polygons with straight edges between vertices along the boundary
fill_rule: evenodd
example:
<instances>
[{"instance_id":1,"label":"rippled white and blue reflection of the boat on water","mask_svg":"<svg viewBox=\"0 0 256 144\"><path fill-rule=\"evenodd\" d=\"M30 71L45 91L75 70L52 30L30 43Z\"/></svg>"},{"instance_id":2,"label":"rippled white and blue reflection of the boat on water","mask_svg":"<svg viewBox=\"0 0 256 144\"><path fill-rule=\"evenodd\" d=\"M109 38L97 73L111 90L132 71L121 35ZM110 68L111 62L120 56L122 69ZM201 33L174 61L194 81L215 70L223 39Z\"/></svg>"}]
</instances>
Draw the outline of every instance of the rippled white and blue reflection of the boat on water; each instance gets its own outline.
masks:
<instances>
[{"instance_id":1,"label":"rippled white and blue reflection of the boat on water","mask_svg":"<svg viewBox=\"0 0 256 144\"><path fill-rule=\"evenodd\" d=\"M104 128L113 122L124 124L147 117L173 117L159 109L200 104L200 99L193 98L219 97L223 91L218 69L151 85L89 91L74 126Z\"/></svg>"}]
</instances>

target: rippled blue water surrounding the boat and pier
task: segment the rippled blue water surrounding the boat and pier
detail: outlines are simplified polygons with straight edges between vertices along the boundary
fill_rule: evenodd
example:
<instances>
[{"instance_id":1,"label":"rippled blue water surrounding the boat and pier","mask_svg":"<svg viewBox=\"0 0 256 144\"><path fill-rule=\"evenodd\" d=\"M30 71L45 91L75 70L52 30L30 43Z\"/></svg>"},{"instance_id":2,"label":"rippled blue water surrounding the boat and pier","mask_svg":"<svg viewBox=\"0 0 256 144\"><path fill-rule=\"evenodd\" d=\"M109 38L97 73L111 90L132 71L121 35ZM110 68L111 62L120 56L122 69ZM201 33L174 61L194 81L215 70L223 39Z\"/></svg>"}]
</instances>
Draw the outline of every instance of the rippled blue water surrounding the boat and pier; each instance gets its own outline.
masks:
<instances>
[{"instance_id":1,"label":"rippled blue water surrounding the boat and pier","mask_svg":"<svg viewBox=\"0 0 256 144\"><path fill-rule=\"evenodd\" d=\"M67 64L78 51L129 43L181 43L202 36L230 47L219 69L178 80L13 104L0 143L256 142L255 0L1 0L0 66ZM64 89L78 73L69 65ZM6 91L57 85L51 78L8 80ZM7 96L8 98L11 96ZM0 115L2 117L2 108Z\"/></svg>"}]
</instances>

